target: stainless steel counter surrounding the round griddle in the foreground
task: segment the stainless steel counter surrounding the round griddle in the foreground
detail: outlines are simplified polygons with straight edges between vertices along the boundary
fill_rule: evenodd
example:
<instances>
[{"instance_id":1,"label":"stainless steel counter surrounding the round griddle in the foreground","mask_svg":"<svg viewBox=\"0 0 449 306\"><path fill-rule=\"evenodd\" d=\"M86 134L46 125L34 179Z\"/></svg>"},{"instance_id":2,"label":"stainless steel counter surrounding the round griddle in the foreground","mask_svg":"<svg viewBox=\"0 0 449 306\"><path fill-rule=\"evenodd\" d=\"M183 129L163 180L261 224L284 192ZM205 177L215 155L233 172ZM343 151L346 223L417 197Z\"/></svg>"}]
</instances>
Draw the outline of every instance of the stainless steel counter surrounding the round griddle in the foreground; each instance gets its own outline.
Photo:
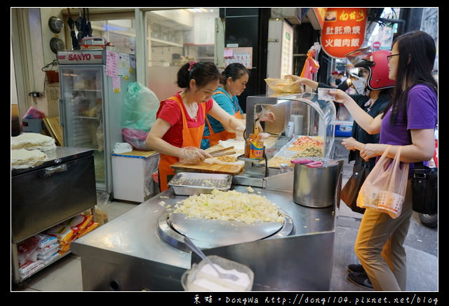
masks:
<instances>
[{"instance_id":1,"label":"stainless steel counter surrounding the round griddle in the foreground","mask_svg":"<svg viewBox=\"0 0 449 306\"><path fill-rule=\"evenodd\" d=\"M245 186L232 188L247 192ZM293 235L203 249L204 253L248 265L255 273L255 291L328 290L335 208L302 207L293 202L292 193L253 189L291 216ZM182 290L182 273L199 258L164 242L157 227L161 214L166 214L159 202L173 205L185 198L166 190L72 242L72 252L81 256L83 290Z\"/></svg>"}]
</instances>

